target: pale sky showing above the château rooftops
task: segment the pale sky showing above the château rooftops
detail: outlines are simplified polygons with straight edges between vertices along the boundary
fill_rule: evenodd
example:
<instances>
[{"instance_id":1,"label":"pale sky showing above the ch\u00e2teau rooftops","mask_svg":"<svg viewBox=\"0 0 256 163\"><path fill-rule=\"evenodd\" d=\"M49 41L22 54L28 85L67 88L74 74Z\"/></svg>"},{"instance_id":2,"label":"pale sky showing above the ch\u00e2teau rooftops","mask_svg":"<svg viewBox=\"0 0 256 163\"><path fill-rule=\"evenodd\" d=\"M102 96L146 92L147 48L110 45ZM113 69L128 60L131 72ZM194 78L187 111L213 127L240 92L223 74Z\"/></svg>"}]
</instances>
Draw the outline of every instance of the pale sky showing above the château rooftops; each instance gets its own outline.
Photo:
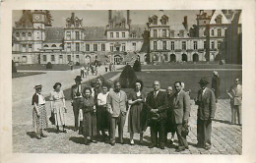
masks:
<instances>
[{"instance_id":1,"label":"pale sky showing above the ch\u00e2teau rooftops","mask_svg":"<svg viewBox=\"0 0 256 163\"><path fill-rule=\"evenodd\" d=\"M106 26L108 24L107 10L50 10L53 18L53 27L65 27L66 19L71 17L74 12L75 16L83 19L84 27ZM125 11L124 11L125 12ZM212 14L211 10L205 10L208 14ZM164 10L163 13L169 17L170 24L182 24L184 17L187 16L189 25L196 25L196 15L199 10ZM159 14L158 10L130 10L130 19L132 24L146 24L148 18L155 14ZM13 11L13 25L19 21L22 16L22 11Z\"/></svg>"}]
</instances>

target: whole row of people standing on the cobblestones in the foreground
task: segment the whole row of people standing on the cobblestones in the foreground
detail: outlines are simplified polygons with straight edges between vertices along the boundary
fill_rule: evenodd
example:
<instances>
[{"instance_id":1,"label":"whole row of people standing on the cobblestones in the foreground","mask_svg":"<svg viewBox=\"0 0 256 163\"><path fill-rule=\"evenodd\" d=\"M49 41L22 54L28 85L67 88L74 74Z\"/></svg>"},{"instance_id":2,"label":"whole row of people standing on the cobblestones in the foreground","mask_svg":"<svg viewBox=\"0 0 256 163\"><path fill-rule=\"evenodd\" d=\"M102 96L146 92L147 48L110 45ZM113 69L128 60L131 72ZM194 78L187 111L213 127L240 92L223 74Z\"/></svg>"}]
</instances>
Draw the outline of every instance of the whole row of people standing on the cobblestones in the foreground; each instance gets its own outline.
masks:
<instances>
[{"instance_id":1,"label":"whole row of people standing on the cobblestones in the foreground","mask_svg":"<svg viewBox=\"0 0 256 163\"><path fill-rule=\"evenodd\" d=\"M115 132L118 126L119 142L124 143L124 124L128 114L128 133L130 144L133 145L134 134L140 134L140 143L143 143L143 134L150 127L150 148L160 147L164 149L167 143L167 134L171 133L170 143L173 143L174 135L178 138L176 151L188 149L188 122L190 117L190 95L184 90L184 83L175 81L168 86L166 91L160 90L160 81L153 82L153 91L146 94L143 90L143 81L137 80L134 91L127 95L121 90L119 81L114 81L113 88L96 81L94 88L81 83L81 76L75 79L76 84L71 87L71 103L73 106L75 131L85 137L85 144L96 142L98 136L103 141L109 140L115 145ZM241 123L241 85L239 79L227 91L231 98L233 115L238 115L238 123ZM198 91L195 104L198 105L197 113L197 146L211 148L212 121L216 112L216 89L207 87L209 81L202 78L199 81L201 89ZM32 122L36 137L45 137L43 129L47 128L47 116L45 99L41 95L41 85L36 85L32 96ZM61 83L56 82L54 90L50 94L50 107L55 116L57 133L65 130L65 96L61 90ZM175 91L173 91L175 90ZM239 97L238 97L239 96ZM240 104L239 103L239 104ZM232 122L236 119L232 117ZM234 122L235 123L235 122ZM106 135L108 132L108 135Z\"/></svg>"}]
</instances>

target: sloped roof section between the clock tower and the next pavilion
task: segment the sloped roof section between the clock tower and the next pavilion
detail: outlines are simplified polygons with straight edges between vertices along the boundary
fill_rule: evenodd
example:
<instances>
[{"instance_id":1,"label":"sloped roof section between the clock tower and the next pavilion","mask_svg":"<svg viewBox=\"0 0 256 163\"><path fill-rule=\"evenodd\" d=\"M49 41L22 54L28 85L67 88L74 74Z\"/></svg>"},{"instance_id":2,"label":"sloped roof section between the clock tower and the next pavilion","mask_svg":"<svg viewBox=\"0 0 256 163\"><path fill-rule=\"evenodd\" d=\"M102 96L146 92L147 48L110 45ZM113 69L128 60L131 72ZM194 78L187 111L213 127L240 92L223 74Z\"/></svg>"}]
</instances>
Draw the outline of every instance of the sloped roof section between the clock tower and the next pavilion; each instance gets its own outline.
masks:
<instances>
[{"instance_id":1,"label":"sloped roof section between the clock tower and the next pavilion","mask_svg":"<svg viewBox=\"0 0 256 163\"><path fill-rule=\"evenodd\" d=\"M64 39L63 27L45 27L45 42L62 42Z\"/></svg>"}]
</instances>

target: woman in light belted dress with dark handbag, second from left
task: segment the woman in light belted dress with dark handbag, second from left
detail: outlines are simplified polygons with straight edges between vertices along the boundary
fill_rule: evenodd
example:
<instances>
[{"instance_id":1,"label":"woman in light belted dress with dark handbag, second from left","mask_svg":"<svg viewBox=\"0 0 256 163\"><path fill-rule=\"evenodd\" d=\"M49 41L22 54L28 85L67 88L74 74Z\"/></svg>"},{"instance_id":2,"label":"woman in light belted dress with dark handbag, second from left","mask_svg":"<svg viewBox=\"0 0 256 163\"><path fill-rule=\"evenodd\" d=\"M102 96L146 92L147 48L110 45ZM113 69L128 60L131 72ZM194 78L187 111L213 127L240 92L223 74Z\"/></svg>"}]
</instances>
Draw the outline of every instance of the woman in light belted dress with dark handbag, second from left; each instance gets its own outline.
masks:
<instances>
[{"instance_id":1,"label":"woman in light belted dress with dark handbag, second from left","mask_svg":"<svg viewBox=\"0 0 256 163\"><path fill-rule=\"evenodd\" d=\"M57 128L57 133L59 133L60 127L62 127L62 132L67 133L65 130L65 114L67 113L67 108L65 104L65 95L63 90L61 90L61 83L56 82L53 85L54 90L50 92L50 107L55 117L55 125Z\"/></svg>"}]
</instances>

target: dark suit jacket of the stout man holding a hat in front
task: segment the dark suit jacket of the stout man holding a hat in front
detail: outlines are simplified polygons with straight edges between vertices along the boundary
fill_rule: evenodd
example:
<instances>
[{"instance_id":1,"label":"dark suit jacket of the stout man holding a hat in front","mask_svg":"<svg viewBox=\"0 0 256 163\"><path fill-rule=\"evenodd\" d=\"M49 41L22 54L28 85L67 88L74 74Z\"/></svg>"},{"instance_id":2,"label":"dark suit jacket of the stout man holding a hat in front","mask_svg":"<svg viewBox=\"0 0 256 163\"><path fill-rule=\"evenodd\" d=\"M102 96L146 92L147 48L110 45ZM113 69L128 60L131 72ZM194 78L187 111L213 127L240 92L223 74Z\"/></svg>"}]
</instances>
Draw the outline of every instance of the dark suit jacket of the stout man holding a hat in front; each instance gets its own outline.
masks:
<instances>
[{"instance_id":1,"label":"dark suit jacket of the stout man holding a hat in front","mask_svg":"<svg viewBox=\"0 0 256 163\"><path fill-rule=\"evenodd\" d=\"M165 107L165 96L166 93L164 91L159 91L157 97L154 97L154 91L148 93L146 98L146 106L148 107L148 111L151 109L159 109L160 121L165 120L166 115L166 107ZM149 120L151 120L152 114L149 114Z\"/></svg>"}]
</instances>

